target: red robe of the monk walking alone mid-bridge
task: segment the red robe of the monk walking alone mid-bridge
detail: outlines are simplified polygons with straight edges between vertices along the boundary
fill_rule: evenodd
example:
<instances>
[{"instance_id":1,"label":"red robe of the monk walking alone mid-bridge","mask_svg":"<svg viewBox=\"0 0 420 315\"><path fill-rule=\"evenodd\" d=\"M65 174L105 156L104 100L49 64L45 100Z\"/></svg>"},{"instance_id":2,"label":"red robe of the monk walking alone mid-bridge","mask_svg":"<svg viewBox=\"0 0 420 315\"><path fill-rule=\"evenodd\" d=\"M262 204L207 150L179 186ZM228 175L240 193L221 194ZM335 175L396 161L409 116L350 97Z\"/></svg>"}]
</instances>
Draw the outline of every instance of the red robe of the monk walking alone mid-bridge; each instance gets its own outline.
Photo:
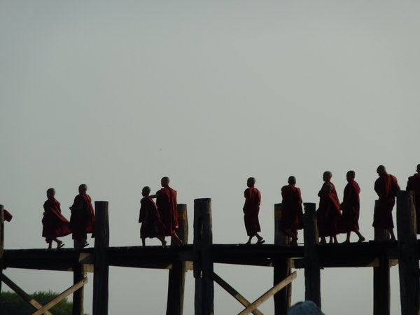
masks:
<instances>
[{"instance_id":1,"label":"red robe of the monk walking alone mid-bridge","mask_svg":"<svg viewBox=\"0 0 420 315\"><path fill-rule=\"evenodd\" d=\"M260 212L261 193L257 188L249 187L244 191L244 221L246 235L254 236L256 232L260 232L260 221L258 214Z\"/></svg>"}]
</instances>

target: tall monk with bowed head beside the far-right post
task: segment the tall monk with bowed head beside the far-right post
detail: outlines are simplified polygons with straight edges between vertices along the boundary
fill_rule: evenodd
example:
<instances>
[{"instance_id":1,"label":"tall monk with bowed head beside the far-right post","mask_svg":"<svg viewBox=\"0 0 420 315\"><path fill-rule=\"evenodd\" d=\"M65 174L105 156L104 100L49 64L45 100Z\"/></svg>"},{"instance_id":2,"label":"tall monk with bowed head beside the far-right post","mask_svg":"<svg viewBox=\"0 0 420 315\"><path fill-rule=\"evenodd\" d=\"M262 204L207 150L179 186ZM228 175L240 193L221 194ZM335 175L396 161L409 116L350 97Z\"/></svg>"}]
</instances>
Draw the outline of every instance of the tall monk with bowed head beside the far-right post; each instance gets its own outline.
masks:
<instances>
[{"instance_id":1,"label":"tall monk with bowed head beside the far-right post","mask_svg":"<svg viewBox=\"0 0 420 315\"><path fill-rule=\"evenodd\" d=\"M378 194L378 207L374 209L374 228L388 230L391 241L396 241L393 232L392 209L395 204L395 196L400 191L400 186L395 176L388 174L384 165L377 167L379 178L374 182L374 191Z\"/></svg>"}]
</instances>

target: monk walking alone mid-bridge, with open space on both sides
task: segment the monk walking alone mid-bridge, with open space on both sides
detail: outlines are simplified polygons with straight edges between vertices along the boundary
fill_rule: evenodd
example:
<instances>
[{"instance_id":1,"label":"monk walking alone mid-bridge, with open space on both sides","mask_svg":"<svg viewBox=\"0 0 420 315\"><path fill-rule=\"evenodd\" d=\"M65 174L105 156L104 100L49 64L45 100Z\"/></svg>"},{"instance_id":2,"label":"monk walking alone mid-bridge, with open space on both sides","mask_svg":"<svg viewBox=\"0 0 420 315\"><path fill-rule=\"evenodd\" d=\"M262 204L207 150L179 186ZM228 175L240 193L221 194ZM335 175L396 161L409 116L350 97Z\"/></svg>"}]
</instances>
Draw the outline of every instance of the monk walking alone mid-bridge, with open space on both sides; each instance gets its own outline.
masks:
<instances>
[{"instance_id":1,"label":"monk walking alone mid-bridge, with open space on both sides","mask_svg":"<svg viewBox=\"0 0 420 315\"><path fill-rule=\"evenodd\" d=\"M258 235L261 231L260 222L258 221L258 213L260 212L261 193L260 190L255 188L255 179L253 177L248 178L246 181L248 188L244 191L245 204L244 204L244 221L246 234L249 239L246 244L251 244L251 239L257 237L256 244L262 244L265 240Z\"/></svg>"}]
</instances>

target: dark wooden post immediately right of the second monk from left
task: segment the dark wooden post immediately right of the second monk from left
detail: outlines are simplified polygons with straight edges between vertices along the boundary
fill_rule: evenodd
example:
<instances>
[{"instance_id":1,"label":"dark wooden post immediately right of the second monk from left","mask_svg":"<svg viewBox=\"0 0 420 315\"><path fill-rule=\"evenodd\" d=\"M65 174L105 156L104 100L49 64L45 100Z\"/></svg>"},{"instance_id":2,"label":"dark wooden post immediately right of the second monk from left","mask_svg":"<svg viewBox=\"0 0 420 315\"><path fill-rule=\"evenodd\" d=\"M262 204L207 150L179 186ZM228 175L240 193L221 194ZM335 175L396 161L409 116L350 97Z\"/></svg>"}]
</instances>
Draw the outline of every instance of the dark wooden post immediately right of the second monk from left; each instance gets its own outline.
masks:
<instances>
[{"instance_id":1,"label":"dark wooden post immediately right of the second monk from left","mask_svg":"<svg viewBox=\"0 0 420 315\"><path fill-rule=\"evenodd\" d=\"M109 247L108 202L94 202L93 315L108 314Z\"/></svg>"}]
</instances>

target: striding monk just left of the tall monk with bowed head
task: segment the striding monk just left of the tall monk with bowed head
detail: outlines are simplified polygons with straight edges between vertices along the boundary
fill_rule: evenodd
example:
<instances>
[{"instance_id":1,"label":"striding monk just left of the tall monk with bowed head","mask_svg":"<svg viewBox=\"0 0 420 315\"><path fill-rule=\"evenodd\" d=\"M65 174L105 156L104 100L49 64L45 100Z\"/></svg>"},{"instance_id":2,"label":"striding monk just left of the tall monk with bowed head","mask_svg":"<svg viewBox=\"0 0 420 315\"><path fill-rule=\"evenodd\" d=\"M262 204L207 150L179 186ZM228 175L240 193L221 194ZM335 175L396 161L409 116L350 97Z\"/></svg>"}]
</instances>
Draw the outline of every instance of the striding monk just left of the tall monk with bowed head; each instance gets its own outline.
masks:
<instances>
[{"instance_id":1,"label":"striding monk just left of the tall monk with bowed head","mask_svg":"<svg viewBox=\"0 0 420 315\"><path fill-rule=\"evenodd\" d=\"M356 172L349 171L346 174L347 185L344 188L344 197L343 202L340 204L342 209L342 229L343 232L347 234L346 240L344 243L350 242L351 232L355 232L358 236L358 242L365 241L365 237L360 234L358 218L360 213L360 187L358 183L354 180L356 177Z\"/></svg>"}]
</instances>

